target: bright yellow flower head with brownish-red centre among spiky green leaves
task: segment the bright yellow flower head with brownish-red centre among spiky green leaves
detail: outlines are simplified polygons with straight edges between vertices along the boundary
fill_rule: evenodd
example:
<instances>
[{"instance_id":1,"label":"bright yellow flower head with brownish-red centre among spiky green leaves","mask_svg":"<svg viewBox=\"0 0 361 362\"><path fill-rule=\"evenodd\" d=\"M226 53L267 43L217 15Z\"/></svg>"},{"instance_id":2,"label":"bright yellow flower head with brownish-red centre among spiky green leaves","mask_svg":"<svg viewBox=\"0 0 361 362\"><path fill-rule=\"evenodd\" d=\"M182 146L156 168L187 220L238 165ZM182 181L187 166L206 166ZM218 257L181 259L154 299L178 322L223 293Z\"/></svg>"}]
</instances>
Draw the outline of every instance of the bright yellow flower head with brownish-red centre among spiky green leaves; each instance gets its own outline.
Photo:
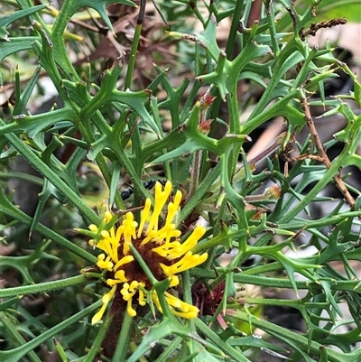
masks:
<instances>
[{"instance_id":1,"label":"bright yellow flower head with brownish-red centre among spiky green leaves","mask_svg":"<svg viewBox=\"0 0 361 362\"><path fill-rule=\"evenodd\" d=\"M103 305L94 315L93 324L101 320L107 304L115 296L126 302L126 310L131 317L136 315L134 304L143 306L150 301L162 312L157 292L132 255L130 245L142 256L154 277L158 281L169 278L171 287L179 284L176 274L200 265L207 259L207 253L193 255L191 252L203 237L206 231L204 227L195 227L190 237L180 243L181 232L176 229L174 219L180 209L181 192L178 190L173 201L167 203L171 189L170 181L166 182L164 188L156 182L154 205L152 200L145 200L139 225L134 220L134 214L127 212L125 218L118 220L114 226L107 227L113 219L113 215L107 211L100 227L89 226L97 235L97 241L92 239L89 244L102 250L103 253L97 255L97 266L105 270L106 284L111 288L110 292L103 295ZM167 212L163 221L162 210L166 203ZM165 292L164 297L174 315L187 319L197 317L198 308L180 301L170 292Z\"/></svg>"}]
</instances>

